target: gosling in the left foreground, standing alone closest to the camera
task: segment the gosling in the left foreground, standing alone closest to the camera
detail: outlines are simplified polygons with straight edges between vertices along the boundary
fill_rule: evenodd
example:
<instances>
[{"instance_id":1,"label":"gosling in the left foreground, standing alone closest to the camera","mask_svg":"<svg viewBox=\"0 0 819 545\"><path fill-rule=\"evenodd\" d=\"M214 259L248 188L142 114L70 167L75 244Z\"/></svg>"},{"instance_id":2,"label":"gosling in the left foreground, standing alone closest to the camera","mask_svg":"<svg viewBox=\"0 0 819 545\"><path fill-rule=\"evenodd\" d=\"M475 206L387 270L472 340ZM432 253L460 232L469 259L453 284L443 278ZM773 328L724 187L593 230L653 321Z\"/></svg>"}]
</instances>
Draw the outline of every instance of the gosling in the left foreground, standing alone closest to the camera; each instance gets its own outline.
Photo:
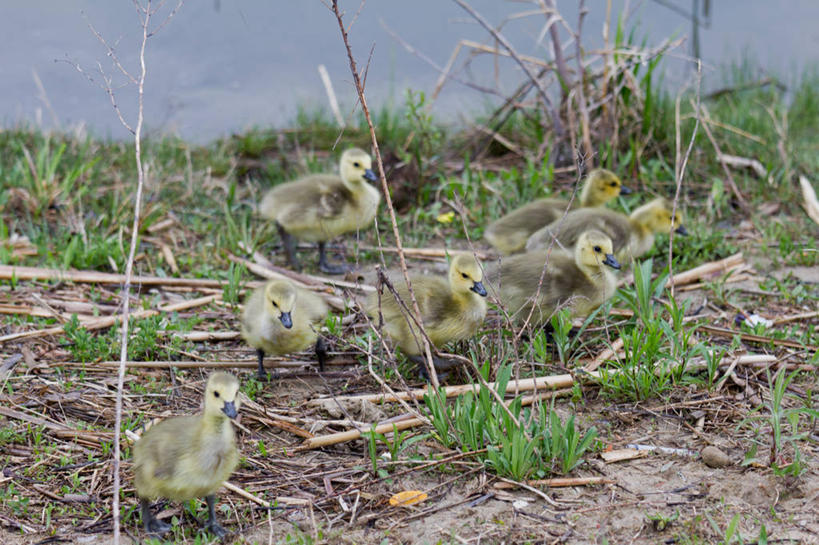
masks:
<instances>
[{"instance_id":1,"label":"gosling in the left foreground, standing alone closest to the camera","mask_svg":"<svg viewBox=\"0 0 819 545\"><path fill-rule=\"evenodd\" d=\"M148 533L171 529L151 514L156 498L185 502L204 497L207 530L218 537L226 531L216 521L216 496L239 463L236 438L228 419L239 410L239 381L229 373L213 373L205 389L205 409L196 416L169 418L151 427L134 444L134 485Z\"/></svg>"}]
</instances>

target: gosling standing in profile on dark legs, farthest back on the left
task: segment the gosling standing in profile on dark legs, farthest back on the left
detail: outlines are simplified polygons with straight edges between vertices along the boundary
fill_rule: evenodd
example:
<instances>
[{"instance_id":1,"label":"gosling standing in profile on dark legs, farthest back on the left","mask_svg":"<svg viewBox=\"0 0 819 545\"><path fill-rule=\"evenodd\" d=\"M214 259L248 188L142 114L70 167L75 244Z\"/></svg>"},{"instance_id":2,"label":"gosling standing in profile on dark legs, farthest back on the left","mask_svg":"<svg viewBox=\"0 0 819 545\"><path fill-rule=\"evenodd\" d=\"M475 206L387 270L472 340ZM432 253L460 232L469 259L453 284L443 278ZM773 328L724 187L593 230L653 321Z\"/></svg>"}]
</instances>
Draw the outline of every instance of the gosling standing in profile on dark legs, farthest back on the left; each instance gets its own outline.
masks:
<instances>
[{"instance_id":1,"label":"gosling standing in profile on dark legs, farthest back on the left","mask_svg":"<svg viewBox=\"0 0 819 545\"><path fill-rule=\"evenodd\" d=\"M349 267L327 261L327 241L370 225L381 193L367 181L378 178L372 160L363 150L351 148L341 155L341 175L313 174L278 185L267 192L260 214L276 224L290 265L301 270L296 240L316 242L319 269L343 274Z\"/></svg>"}]
</instances>

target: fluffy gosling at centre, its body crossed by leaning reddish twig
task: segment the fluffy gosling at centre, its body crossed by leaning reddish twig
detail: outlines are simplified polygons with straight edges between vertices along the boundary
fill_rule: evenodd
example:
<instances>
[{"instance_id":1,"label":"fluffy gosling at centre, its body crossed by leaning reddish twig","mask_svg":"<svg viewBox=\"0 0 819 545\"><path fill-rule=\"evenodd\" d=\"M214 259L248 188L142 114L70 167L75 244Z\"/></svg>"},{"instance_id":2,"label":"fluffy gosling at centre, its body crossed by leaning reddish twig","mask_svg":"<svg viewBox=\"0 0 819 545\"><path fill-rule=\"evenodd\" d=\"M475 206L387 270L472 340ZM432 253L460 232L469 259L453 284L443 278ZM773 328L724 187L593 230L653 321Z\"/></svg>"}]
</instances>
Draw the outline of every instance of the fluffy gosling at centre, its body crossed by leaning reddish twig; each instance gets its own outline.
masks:
<instances>
[{"instance_id":1,"label":"fluffy gosling at centre, its body crossed by leaning reddish twig","mask_svg":"<svg viewBox=\"0 0 819 545\"><path fill-rule=\"evenodd\" d=\"M411 282L424 330L434 346L465 340L477 333L486 318L486 288L483 270L472 255L456 255L449 266L448 279L413 276ZM396 286L396 292L414 315L406 285ZM365 310L376 324L379 316L383 319L384 333L418 366L421 376L428 379L422 355L423 336L392 293L384 293L380 306L378 293L373 293ZM452 366L450 361L437 356L433 357L433 364L441 371Z\"/></svg>"}]
</instances>

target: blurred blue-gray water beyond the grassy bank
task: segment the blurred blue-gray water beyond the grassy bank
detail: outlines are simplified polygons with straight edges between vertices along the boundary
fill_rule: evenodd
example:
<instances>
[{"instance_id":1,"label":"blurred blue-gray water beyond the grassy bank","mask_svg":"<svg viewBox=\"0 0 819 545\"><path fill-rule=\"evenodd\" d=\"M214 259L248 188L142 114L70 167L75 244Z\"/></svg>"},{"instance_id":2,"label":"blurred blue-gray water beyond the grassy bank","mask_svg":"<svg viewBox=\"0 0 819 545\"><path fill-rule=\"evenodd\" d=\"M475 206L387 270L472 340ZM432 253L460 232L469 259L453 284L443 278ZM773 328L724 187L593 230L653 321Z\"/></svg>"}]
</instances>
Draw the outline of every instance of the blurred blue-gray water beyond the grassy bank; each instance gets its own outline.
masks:
<instances>
[{"instance_id":1,"label":"blurred blue-gray water beyond the grassy bank","mask_svg":"<svg viewBox=\"0 0 819 545\"><path fill-rule=\"evenodd\" d=\"M349 22L359 1L341 0L341 4ZM470 0L470 4L493 24L532 8L502 0ZM576 2L557 4L574 26ZM590 12L583 31L587 48L602 44L605 6L603 0L587 2ZM690 12L692 0L615 0L613 6L615 14L624 7L632 13L639 41L645 37L651 45L672 33L688 36L677 50L679 56L666 63L664 80L674 88L690 77L690 64L682 56L692 52L692 23L678 11ZM97 63L106 73L118 74L88 22L116 45L123 64L136 73L141 29L132 0L28 0L6 2L4 7L0 18L5 38L0 63L3 126L79 126L98 136L125 136L108 97L98 87L102 77ZM700 17L702 10L700 4ZM504 33L521 54L544 56L548 44L537 43L543 23L542 17L520 19L509 23ZM724 70L720 67L743 55L759 66L760 77L769 73L786 82L819 60L819 0L711 0L707 23L699 31L706 86L721 85ZM367 96L375 107L403 102L407 87L431 91L439 75L391 37L385 26L439 66L446 64L460 39L485 41L487 36L451 0L369 0L350 29L350 40L361 66L373 51ZM79 64L86 75L71 63ZM326 107L319 64L327 67L344 113L349 114L354 104L339 30L320 0L188 0L149 40L147 63L149 130L197 142L254 125L286 124L299 106ZM514 89L523 78L511 62L501 63L496 73L489 57L461 76L497 84L501 91ZM115 85L123 83L123 77L115 78ZM134 86L118 89L118 102L126 118L133 119ZM435 111L456 120L459 114L491 102L490 96L450 81Z\"/></svg>"}]
</instances>

